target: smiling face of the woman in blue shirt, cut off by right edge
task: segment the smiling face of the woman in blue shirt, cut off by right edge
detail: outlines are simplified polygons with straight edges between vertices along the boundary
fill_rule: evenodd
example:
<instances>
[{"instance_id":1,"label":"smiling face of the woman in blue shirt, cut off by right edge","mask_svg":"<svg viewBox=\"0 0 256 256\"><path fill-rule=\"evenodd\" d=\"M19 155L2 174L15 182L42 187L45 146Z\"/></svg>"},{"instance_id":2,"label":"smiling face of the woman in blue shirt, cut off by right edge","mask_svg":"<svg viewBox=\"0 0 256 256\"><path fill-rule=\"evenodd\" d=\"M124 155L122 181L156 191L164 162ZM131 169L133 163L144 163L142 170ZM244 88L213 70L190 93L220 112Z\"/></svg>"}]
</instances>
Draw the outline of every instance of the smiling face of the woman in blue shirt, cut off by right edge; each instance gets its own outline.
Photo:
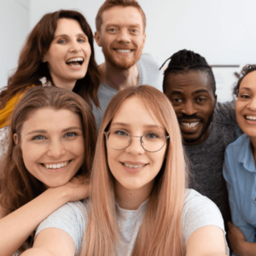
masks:
<instances>
[{"instance_id":1,"label":"smiling face of the woman in blue shirt, cut off by right edge","mask_svg":"<svg viewBox=\"0 0 256 256\"><path fill-rule=\"evenodd\" d=\"M256 71L242 79L236 101L236 120L253 144L256 143Z\"/></svg>"}]
</instances>

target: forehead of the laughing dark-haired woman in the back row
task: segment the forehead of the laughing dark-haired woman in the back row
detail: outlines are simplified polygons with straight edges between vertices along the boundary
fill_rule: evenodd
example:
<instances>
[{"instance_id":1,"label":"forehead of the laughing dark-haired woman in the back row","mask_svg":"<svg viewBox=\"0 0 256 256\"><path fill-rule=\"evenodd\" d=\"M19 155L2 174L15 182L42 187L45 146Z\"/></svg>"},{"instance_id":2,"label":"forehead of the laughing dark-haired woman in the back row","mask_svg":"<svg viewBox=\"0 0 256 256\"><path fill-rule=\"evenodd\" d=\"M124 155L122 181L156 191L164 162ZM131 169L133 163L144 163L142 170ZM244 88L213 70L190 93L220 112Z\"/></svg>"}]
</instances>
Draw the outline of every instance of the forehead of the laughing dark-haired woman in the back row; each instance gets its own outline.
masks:
<instances>
[{"instance_id":1,"label":"forehead of the laughing dark-haired woman in the back row","mask_svg":"<svg viewBox=\"0 0 256 256\"><path fill-rule=\"evenodd\" d=\"M61 18L57 21L55 36L59 34L84 33L78 20Z\"/></svg>"}]
</instances>

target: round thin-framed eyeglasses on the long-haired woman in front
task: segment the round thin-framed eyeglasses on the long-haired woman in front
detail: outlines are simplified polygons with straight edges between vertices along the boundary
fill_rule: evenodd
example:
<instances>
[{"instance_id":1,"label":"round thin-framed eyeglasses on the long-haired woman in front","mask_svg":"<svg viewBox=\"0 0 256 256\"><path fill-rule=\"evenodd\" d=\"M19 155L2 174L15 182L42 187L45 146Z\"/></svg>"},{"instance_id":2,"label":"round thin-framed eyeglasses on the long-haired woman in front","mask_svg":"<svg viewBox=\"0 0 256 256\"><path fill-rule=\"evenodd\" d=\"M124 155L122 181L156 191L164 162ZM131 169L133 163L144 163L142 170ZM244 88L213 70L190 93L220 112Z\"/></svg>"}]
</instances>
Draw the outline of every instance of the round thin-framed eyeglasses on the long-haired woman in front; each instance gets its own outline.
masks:
<instances>
[{"instance_id":1,"label":"round thin-framed eyeglasses on the long-haired woman in front","mask_svg":"<svg viewBox=\"0 0 256 256\"><path fill-rule=\"evenodd\" d=\"M133 136L129 132L119 129L105 131L104 135L107 137L108 146L117 150L127 148L131 143L131 137L140 137L142 147L148 152L159 151L169 138L169 136L153 131L147 132L143 136Z\"/></svg>"}]
</instances>

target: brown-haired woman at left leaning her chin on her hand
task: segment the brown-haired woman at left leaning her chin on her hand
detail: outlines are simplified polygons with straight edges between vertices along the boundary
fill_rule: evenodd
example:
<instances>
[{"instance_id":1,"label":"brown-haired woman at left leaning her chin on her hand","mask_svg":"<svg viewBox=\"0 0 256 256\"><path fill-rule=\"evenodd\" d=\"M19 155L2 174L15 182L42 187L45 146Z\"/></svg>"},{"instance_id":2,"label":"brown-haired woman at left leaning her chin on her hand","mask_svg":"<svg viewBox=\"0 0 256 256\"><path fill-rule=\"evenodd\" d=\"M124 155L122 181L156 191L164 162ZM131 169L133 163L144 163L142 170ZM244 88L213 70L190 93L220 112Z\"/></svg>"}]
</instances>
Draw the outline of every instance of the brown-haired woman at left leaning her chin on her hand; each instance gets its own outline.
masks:
<instances>
[{"instance_id":1,"label":"brown-haired woman at left leaning her chin on her hand","mask_svg":"<svg viewBox=\"0 0 256 256\"><path fill-rule=\"evenodd\" d=\"M89 194L96 146L90 106L54 86L27 90L9 128L13 140L0 167L1 256L31 247L44 218Z\"/></svg>"}]
</instances>

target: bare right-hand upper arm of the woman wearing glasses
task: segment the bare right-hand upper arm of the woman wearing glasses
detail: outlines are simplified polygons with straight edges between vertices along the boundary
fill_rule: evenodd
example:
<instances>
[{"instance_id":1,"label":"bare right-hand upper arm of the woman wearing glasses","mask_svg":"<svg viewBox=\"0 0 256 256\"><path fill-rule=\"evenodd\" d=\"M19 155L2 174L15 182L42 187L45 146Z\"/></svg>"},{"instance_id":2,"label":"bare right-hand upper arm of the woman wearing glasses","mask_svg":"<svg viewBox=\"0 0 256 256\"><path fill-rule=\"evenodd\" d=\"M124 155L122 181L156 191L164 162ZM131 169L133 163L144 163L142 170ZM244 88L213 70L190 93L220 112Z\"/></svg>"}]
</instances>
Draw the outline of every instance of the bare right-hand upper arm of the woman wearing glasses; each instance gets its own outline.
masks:
<instances>
[{"instance_id":1,"label":"bare right-hand upper arm of the woman wearing glasses","mask_svg":"<svg viewBox=\"0 0 256 256\"><path fill-rule=\"evenodd\" d=\"M189 236L186 256L224 256L224 231L217 226L204 226Z\"/></svg>"}]
</instances>

